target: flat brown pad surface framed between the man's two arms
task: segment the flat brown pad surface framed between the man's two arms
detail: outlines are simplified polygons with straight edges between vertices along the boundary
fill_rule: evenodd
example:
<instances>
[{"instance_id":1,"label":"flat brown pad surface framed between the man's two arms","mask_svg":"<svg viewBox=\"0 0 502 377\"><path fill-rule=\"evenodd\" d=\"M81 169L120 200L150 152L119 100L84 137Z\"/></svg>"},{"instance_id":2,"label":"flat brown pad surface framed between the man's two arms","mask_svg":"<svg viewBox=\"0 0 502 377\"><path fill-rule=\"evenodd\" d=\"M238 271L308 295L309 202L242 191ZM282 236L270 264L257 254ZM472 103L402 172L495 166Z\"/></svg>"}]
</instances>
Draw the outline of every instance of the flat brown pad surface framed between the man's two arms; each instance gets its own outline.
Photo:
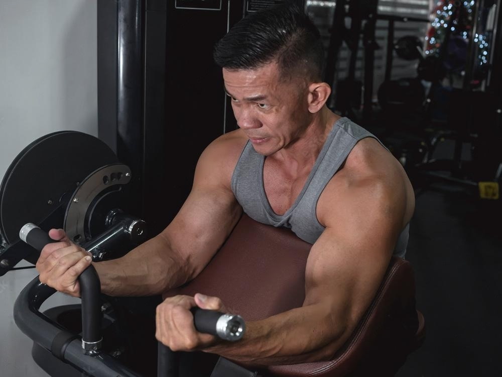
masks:
<instances>
[{"instance_id":1,"label":"flat brown pad surface framed between the man's two arms","mask_svg":"<svg viewBox=\"0 0 502 377\"><path fill-rule=\"evenodd\" d=\"M206 268L164 296L203 293L219 297L246 321L267 318L302 306L311 247L288 229L242 215Z\"/></svg>"}]
</instances>

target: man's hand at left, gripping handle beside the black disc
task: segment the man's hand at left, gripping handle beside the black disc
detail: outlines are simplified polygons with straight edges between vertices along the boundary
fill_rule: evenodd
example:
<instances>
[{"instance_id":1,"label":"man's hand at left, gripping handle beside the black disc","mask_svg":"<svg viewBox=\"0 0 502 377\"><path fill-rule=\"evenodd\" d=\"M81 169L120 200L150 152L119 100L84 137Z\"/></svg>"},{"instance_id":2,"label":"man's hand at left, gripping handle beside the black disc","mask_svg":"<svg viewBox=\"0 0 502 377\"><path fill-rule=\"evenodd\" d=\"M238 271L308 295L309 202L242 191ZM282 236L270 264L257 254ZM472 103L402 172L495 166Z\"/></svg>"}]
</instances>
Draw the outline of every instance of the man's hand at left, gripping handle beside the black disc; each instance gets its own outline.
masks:
<instances>
[{"instance_id":1,"label":"man's hand at left, gripping handle beside the black disc","mask_svg":"<svg viewBox=\"0 0 502 377\"><path fill-rule=\"evenodd\" d=\"M91 254L75 245L62 229L51 229L47 244L40 253L36 267L40 281L59 292L80 297L78 276L91 264Z\"/></svg>"}]
</instances>

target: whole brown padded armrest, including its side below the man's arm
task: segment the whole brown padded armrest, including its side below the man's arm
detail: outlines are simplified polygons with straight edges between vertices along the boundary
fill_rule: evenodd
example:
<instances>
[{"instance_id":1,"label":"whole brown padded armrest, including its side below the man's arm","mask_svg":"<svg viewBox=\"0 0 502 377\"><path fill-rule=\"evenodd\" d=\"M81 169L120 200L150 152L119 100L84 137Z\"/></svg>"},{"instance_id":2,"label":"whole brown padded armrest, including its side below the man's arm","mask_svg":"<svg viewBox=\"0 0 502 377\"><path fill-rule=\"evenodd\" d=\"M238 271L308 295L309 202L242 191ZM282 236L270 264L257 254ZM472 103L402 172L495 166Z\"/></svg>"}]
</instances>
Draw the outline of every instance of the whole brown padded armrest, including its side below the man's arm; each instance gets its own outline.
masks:
<instances>
[{"instance_id":1,"label":"whole brown padded armrest, including its side below the man's arm","mask_svg":"<svg viewBox=\"0 0 502 377\"><path fill-rule=\"evenodd\" d=\"M230 312L246 321L267 318L302 306L311 247L288 229L264 225L243 215L206 268L194 280L164 296L203 293L221 298ZM360 369L362 374L350 375L371 375L376 365L394 370L394 364L401 365L408 348L415 346L418 325L414 295L411 265L393 257L368 312L331 361L271 366L263 374L335 377ZM384 364L394 366L382 365L379 357ZM368 373L364 365L369 374L364 374Z\"/></svg>"}]
</instances>

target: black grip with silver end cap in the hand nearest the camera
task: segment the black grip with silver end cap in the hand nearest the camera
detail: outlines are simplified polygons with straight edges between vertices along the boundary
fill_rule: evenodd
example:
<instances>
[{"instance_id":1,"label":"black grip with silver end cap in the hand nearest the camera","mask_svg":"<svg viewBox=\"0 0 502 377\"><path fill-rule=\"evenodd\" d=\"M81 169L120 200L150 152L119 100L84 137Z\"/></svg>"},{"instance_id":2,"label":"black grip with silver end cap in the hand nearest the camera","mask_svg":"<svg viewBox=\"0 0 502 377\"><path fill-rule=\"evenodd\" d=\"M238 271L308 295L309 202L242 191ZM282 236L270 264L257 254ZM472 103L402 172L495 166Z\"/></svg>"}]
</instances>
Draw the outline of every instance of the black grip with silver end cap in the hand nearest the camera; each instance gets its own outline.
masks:
<instances>
[{"instance_id":1,"label":"black grip with silver end cap in the hand nearest the camera","mask_svg":"<svg viewBox=\"0 0 502 377\"><path fill-rule=\"evenodd\" d=\"M199 332L229 341L239 340L244 335L245 323L238 315L200 308L192 309L192 313L195 329Z\"/></svg>"}]
</instances>

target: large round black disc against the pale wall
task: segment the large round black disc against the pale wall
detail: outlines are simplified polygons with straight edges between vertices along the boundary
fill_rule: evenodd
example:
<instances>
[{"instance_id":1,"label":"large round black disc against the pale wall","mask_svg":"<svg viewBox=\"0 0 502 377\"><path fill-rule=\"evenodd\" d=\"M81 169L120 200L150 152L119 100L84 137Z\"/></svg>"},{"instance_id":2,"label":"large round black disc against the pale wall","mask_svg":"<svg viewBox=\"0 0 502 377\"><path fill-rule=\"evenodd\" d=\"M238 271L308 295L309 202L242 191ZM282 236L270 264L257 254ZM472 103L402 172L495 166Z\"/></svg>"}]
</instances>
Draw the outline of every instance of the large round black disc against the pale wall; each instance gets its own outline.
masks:
<instances>
[{"instance_id":1,"label":"large round black disc against the pale wall","mask_svg":"<svg viewBox=\"0 0 502 377\"><path fill-rule=\"evenodd\" d=\"M28 145L9 166L0 186L0 232L7 243L19 239L28 223L40 223L65 193L97 168L117 163L115 153L98 138L60 131Z\"/></svg>"}]
</instances>

